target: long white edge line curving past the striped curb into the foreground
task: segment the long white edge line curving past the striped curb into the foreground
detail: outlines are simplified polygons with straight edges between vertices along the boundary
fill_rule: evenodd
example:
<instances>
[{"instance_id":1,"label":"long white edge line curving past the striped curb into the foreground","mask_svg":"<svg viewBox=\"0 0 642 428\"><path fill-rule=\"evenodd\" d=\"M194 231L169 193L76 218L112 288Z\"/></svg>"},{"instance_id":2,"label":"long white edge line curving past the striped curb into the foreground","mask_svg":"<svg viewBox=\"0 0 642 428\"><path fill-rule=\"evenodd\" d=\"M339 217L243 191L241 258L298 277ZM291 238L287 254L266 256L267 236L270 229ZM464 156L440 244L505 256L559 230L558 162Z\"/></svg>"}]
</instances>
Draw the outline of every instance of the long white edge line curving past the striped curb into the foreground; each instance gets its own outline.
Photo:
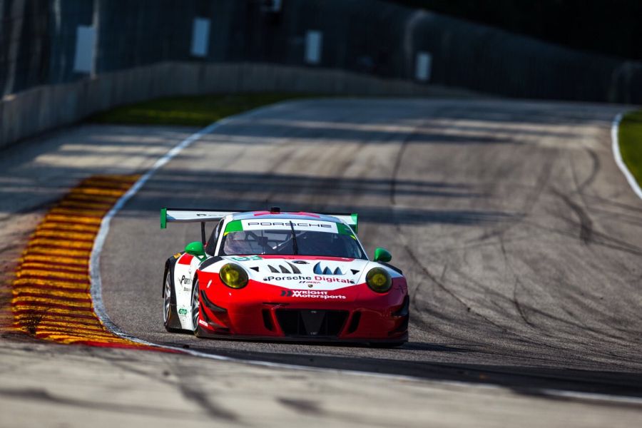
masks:
<instances>
[{"instance_id":1,"label":"long white edge line curving past the striped curb into the foreground","mask_svg":"<svg viewBox=\"0 0 642 428\"><path fill-rule=\"evenodd\" d=\"M109 233L109 228L111 225L112 218L118 213L118 211L121 210L121 208L123 208L123 206L134 195L136 195L136 193L138 193L138 190L140 190L143 187L143 185L147 183L147 181L152 177L152 175L154 175L154 173L156 173L157 170L162 168L163 165L167 164L169 161L175 158L175 156L177 156L178 153L183 151L183 149L187 148L195 141L200 140L200 138L202 138L203 136L209 133L212 133L217 128L220 128L220 126L224 126L236 119L251 118L253 116L258 116L258 114L262 113L264 110L267 110L268 108L275 108L276 106L280 106L281 104L285 104L287 102L288 101L284 101L281 103L272 104L270 106L256 108L255 110L249 111L247 113L241 113L235 116L229 116L228 118L223 118L220 121L211 123L209 126L206 126L200 131L192 134L188 138L185 138L185 140L178 143L176 146L171 148L170 151L165 153L164 156L158 159L158 161L156 161L156 163L154 163L151 166L151 168L145 174L143 174L143 176L141 176L141 178L139 178L136 181L136 183L134 183L134 185L124 195L121 196L121 198L119 198L116 201L116 204L113 205L111 210L108 211L108 213L103 217L103 220L101 221L101 228L100 230L98 230L98 234L96 235L96 240L94 241L93 248L91 250L91 257L89 259L89 274L91 279L90 294L91 294L91 300L93 302L93 310L94 312L96 312L98 319L101 320L103 325L110 332L112 332L113 334L119 337L123 337L124 339L131 340L132 342L140 343L141 345L147 345L150 347L158 347L165 350L178 351L183 354L192 355L194 357L208 358L210 360L235 362L235 363L240 363L245 365L254 365L254 366L269 367L269 368L275 368L275 369L302 370L302 371L320 372L320 373L335 372L335 373L347 374L352 376L360 376L360 377L373 377L373 378L379 378L379 379L399 380L399 381L407 381L407 382L432 383L432 384L443 385L445 387L461 387L461 388L474 388L474 389L486 389L486 390L491 389L495 391L509 392L511 390L509 387L501 387L499 385L489 384L489 383L472 383L472 382L462 382L462 381L426 379L422 377L414 377L414 376L408 376L404 374L360 372L357 370L342 370L342 369L331 369L331 368L324 368L324 367L310 367L310 366L293 365L293 364L285 364L285 363L278 363L278 362L269 362L269 361L261 361L261 360L242 360L235 357L225 357L224 355L210 354L208 352L200 352L200 351L185 349L182 347L159 345L153 342L148 342L146 340L140 339L136 336L129 335L128 333L123 332L123 330L121 330L116 324L113 323L113 321L111 321L111 319L107 315L105 305L103 302L102 282L101 282L101 272L100 272L100 257L103 250L103 246L105 245L105 240ZM542 394L544 397L561 397L561 398L567 398L567 399L569 398L584 399L584 400L598 401L598 402L642 404L642 398L628 397L623 395L593 394L588 392L567 391L564 389L534 389L534 392L538 392Z\"/></svg>"}]
</instances>

